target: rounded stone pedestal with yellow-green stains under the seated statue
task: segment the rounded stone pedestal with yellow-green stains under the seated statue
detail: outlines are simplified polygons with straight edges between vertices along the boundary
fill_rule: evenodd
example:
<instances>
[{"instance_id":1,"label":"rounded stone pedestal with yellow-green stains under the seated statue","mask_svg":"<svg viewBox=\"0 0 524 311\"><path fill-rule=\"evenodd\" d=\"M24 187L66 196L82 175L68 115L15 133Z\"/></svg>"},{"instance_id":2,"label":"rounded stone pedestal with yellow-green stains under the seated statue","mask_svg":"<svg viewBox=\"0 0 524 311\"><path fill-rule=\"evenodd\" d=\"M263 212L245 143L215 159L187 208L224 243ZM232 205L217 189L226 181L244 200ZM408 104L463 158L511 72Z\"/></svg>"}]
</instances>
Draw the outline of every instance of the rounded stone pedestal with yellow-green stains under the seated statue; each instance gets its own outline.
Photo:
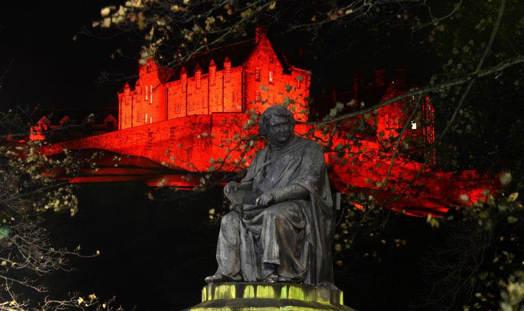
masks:
<instances>
[{"instance_id":1,"label":"rounded stone pedestal with yellow-green stains under the seated statue","mask_svg":"<svg viewBox=\"0 0 524 311\"><path fill-rule=\"evenodd\" d=\"M356 311L342 291L292 283L217 283L202 290L202 303L186 311Z\"/></svg>"}]
</instances>

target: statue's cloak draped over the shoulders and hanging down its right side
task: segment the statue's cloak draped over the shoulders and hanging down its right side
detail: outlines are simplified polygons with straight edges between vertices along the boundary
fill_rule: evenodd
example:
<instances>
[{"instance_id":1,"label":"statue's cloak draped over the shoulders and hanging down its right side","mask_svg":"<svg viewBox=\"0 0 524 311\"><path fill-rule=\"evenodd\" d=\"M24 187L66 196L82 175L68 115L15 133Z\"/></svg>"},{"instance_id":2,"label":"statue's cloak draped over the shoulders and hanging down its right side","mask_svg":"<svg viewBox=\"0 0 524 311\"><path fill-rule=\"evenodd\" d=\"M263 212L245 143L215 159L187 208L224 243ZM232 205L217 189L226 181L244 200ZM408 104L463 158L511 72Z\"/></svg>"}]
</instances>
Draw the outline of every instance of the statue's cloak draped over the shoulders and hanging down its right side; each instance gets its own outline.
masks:
<instances>
[{"instance_id":1,"label":"statue's cloak draped over the shoulders and hanging down its right side","mask_svg":"<svg viewBox=\"0 0 524 311\"><path fill-rule=\"evenodd\" d=\"M331 250L335 215L324 154L315 142L298 136L294 136L282 150L279 150L277 156L273 156L273 159L268 157L270 148L267 146L256 154L241 186L251 187L251 190L259 195L272 188L291 184L298 184L308 190L309 201L291 199L281 203L299 206L302 212L300 221L293 226L297 229L297 242L302 244L295 246L300 248L297 251L301 252L296 256L297 260L302 261L297 265L306 266L307 269L298 276L305 284L333 287ZM277 208L276 205L274 207ZM244 228L246 225L249 226L245 220L242 220L242 225ZM300 228L302 226L303 228ZM300 238L302 230L303 239ZM249 241L244 242L253 244ZM251 247L254 250L256 246L244 247Z\"/></svg>"}]
</instances>

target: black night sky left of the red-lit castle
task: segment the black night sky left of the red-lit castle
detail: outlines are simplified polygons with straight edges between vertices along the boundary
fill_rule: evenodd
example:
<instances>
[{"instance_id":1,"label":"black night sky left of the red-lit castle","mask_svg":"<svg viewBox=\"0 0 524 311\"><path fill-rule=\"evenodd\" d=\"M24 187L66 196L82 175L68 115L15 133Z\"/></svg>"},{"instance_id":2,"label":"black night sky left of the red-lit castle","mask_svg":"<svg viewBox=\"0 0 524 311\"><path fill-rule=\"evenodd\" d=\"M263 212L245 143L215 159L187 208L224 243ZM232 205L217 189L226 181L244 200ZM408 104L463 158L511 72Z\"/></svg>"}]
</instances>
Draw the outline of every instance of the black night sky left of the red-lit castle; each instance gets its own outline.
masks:
<instances>
[{"instance_id":1,"label":"black night sky left of the red-lit castle","mask_svg":"<svg viewBox=\"0 0 524 311\"><path fill-rule=\"evenodd\" d=\"M3 2L0 69L13 63L0 90L0 109L115 107L116 92L124 82L101 83L99 77L102 71L129 74L136 70L132 59L111 59L110 55L122 46L128 48L128 55L138 53L139 45L124 37L105 40L79 34L82 26L91 29L103 6L115 3Z\"/></svg>"}]
</instances>

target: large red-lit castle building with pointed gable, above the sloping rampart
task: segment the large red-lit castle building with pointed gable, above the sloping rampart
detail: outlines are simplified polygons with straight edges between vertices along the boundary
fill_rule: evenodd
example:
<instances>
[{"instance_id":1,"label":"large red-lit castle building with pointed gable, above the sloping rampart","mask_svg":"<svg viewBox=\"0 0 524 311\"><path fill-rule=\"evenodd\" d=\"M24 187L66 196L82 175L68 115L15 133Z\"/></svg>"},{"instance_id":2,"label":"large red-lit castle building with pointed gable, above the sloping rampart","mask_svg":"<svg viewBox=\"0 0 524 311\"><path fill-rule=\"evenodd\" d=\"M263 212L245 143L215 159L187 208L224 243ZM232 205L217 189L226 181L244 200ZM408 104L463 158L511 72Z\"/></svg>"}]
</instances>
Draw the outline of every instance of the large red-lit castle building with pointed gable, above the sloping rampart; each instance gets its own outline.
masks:
<instances>
[{"instance_id":1,"label":"large red-lit castle building with pointed gable, above the sloping rampart","mask_svg":"<svg viewBox=\"0 0 524 311\"><path fill-rule=\"evenodd\" d=\"M118 94L118 128L253 108L258 112L263 103L282 103L285 95L308 97L309 83L307 71L277 54L266 30L257 28L254 40L196 54L179 70L159 70L148 59L134 88L126 84ZM295 86L290 94L285 85ZM297 109L305 108L303 101L298 104ZM296 118L305 120L305 115Z\"/></svg>"}]
</instances>

